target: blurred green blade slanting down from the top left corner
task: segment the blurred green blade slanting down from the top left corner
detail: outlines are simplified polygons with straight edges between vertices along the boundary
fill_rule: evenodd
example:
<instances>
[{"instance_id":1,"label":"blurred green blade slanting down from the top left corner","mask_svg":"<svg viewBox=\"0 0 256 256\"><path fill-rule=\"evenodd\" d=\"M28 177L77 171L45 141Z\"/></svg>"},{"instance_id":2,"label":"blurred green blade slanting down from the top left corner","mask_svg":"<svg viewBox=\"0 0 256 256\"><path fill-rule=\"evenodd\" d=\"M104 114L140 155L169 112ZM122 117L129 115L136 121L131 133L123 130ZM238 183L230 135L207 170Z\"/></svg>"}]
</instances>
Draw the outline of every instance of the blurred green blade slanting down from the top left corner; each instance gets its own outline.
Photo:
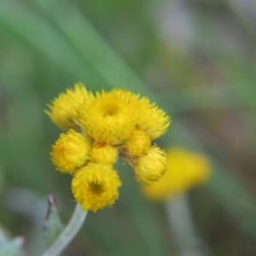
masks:
<instances>
[{"instance_id":1,"label":"blurred green blade slanting down from the top left corner","mask_svg":"<svg viewBox=\"0 0 256 256\"><path fill-rule=\"evenodd\" d=\"M94 80L88 64L67 43L54 26L20 3L0 3L0 31L4 38L15 38L38 49L79 80Z\"/></svg>"}]
</instances>

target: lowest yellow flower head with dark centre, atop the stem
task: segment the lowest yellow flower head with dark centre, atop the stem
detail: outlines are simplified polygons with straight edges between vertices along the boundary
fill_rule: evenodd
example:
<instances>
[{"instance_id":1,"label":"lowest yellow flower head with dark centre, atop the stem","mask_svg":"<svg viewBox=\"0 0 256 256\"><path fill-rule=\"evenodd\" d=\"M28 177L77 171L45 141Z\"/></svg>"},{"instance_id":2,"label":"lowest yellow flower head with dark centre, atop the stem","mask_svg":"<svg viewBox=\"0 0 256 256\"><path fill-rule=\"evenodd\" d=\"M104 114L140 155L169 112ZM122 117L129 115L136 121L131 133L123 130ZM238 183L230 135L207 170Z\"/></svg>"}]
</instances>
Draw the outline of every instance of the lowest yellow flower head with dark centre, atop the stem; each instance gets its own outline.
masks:
<instances>
[{"instance_id":1,"label":"lowest yellow flower head with dark centre, atop the stem","mask_svg":"<svg viewBox=\"0 0 256 256\"><path fill-rule=\"evenodd\" d=\"M75 174L72 181L73 196L85 210L96 212L112 206L119 197L118 173L110 166L90 163Z\"/></svg>"}]
</instances>

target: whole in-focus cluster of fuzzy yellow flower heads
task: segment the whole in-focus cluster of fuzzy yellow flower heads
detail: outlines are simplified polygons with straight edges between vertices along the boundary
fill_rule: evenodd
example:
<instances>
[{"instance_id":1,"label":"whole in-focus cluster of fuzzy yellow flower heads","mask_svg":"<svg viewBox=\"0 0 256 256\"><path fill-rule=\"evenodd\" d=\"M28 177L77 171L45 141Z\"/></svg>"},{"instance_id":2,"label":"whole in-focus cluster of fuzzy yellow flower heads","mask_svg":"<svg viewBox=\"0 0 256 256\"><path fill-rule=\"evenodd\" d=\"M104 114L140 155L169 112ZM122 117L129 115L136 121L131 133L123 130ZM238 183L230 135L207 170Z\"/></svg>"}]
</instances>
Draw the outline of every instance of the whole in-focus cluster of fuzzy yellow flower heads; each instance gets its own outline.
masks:
<instances>
[{"instance_id":1,"label":"whole in-focus cluster of fuzzy yellow flower heads","mask_svg":"<svg viewBox=\"0 0 256 256\"><path fill-rule=\"evenodd\" d=\"M96 212L119 197L121 181L113 169L119 157L139 182L151 183L166 172L166 154L151 142L166 132L170 118L146 97L122 89L93 95L79 83L45 112L67 130L52 147L52 162L73 175L73 195L84 210Z\"/></svg>"}]
</instances>

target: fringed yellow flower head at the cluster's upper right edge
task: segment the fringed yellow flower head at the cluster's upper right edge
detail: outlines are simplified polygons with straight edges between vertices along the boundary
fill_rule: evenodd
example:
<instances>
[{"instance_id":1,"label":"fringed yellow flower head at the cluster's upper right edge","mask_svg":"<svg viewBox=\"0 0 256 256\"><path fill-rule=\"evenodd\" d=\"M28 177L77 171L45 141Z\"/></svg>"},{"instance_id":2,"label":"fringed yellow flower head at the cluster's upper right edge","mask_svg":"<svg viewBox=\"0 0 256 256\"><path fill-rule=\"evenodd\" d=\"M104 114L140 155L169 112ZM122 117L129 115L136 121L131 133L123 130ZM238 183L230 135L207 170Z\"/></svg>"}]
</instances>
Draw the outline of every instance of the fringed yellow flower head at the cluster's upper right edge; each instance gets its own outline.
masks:
<instances>
[{"instance_id":1,"label":"fringed yellow flower head at the cluster's upper right edge","mask_svg":"<svg viewBox=\"0 0 256 256\"><path fill-rule=\"evenodd\" d=\"M163 135L171 124L170 117L166 115L166 112L155 106L154 103L150 103L145 97L137 101L136 105L137 129L145 131L152 139Z\"/></svg>"}]
</instances>

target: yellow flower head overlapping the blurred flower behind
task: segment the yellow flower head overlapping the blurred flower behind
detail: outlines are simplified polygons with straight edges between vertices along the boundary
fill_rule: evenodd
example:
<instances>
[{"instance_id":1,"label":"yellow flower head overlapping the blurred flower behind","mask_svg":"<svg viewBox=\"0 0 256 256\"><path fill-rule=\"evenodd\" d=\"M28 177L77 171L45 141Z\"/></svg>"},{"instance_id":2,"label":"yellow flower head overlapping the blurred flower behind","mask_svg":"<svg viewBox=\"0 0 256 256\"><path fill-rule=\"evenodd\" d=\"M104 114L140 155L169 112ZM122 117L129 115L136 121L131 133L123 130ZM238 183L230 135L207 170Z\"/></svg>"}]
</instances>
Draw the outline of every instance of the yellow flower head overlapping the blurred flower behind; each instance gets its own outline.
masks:
<instances>
[{"instance_id":1,"label":"yellow flower head overlapping the blurred flower behind","mask_svg":"<svg viewBox=\"0 0 256 256\"><path fill-rule=\"evenodd\" d=\"M157 181L166 172L166 153L155 146L148 148L146 154L137 157L133 169L137 181Z\"/></svg>"}]
</instances>

